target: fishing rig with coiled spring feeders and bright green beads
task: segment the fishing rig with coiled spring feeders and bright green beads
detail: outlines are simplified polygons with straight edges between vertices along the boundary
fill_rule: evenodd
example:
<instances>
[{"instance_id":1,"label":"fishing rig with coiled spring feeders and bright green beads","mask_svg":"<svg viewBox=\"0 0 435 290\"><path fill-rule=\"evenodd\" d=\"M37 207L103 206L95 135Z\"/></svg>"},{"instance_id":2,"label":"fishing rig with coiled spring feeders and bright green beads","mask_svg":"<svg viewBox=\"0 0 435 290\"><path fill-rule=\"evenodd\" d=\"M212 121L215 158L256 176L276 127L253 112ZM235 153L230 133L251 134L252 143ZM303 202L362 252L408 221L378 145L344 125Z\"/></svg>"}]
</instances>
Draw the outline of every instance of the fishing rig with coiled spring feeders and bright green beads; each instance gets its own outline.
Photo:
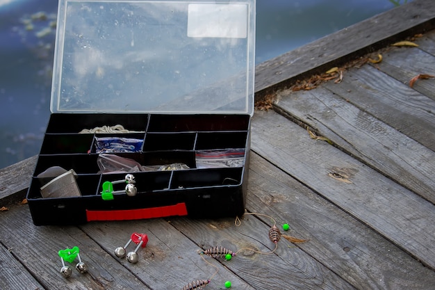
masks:
<instances>
[{"instance_id":1,"label":"fishing rig with coiled spring feeders and bright green beads","mask_svg":"<svg viewBox=\"0 0 435 290\"><path fill-rule=\"evenodd\" d=\"M215 259L225 259L227 261L231 260L232 257L238 255L239 252L243 251L243 250L249 250L252 252L256 252L257 254L263 254L263 255L268 255L268 254L273 254L277 248L278 248L278 242L279 240L281 240L281 236L286 237L286 239L288 239L289 241L294 241L297 243L302 243L304 241L307 240L302 240L302 239L295 239L291 236L286 236L281 234L281 231L278 229L277 227L277 222L276 220L274 220L274 218L272 218L272 216L268 216L265 214L258 214L258 213L246 213L245 215L252 215L252 216L265 216L267 218L270 218L273 222L272 227L270 227L269 229L269 239L270 241L272 241L272 243L274 243L274 249L269 251L269 252L263 252L263 251L259 251L259 250L255 250L252 248L240 248L237 251L233 251L233 250L229 250L225 247L222 247L220 245L215 245L211 248L208 248L206 250L201 250L199 251L199 255L201 255L202 259L204 259L204 256L209 256L209 257L213 257ZM236 220L234 222L234 224L236 226L240 226L240 218L236 217ZM283 225L284 230L288 230L288 224L284 224ZM213 277L217 274L217 272L219 271L219 268L217 268L217 266L214 266L213 264L211 264L210 262L208 262L206 259L204 259L204 261L206 262L206 264L213 266L214 268L216 268L215 273L213 273L213 275L211 275L211 277L208 280L195 280L193 282L190 282L189 284L187 284L185 287L183 287L183 289L181 290L202 290L204 289L204 287L207 286L207 284L209 284L211 282L211 280L213 279ZM225 282L225 288L230 288L231 287L231 282L227 281Z\"/></svg>"}]
</instances>

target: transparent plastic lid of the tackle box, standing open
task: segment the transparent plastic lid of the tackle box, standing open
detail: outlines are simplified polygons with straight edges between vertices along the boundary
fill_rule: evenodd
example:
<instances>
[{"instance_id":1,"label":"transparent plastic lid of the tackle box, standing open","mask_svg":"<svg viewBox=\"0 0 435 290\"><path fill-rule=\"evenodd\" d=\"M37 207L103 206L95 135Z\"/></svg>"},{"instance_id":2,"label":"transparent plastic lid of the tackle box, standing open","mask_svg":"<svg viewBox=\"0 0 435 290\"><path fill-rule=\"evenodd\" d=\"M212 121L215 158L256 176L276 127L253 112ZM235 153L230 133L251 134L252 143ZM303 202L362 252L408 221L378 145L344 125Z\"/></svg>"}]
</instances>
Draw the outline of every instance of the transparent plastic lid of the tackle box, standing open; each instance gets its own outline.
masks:
<instances>
[{"instance_id":1,"label":"transparent plastic lid of the tackle box, standing open","mask_svg":"<svg viewBox=\"0 0 435 290\"><path fill-rule=\"evenodd\" d=\"M60 0L53 113L254 111L255 0Z\"/></svg>"}]
</instances>

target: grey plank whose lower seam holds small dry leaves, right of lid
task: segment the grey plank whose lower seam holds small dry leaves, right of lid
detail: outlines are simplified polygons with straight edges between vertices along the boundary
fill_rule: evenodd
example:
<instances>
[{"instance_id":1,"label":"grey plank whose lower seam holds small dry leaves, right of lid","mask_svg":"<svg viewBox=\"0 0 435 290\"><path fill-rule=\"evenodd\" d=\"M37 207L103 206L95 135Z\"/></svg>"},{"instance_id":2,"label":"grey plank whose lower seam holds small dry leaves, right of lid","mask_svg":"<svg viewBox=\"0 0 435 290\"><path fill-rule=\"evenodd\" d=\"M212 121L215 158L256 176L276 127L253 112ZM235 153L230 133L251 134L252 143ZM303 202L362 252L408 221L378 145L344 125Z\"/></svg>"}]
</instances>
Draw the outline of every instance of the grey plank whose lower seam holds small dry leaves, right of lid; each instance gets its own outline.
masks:
<instances>
[{"instance_id":1,"label":"grey plank whose lower seam holds small dry leaves, right of lid","mask_svg":"<svg viewBox=\"0 0 435 290\"><path fill-rule=\"evenodd\" d=\"M340 85L336 85L340 86ZM358 159L435 203L435 152L326 88L279 93L277 106ZM307 133L308 134L308 133Z\"/></svg>"}]
</instances>

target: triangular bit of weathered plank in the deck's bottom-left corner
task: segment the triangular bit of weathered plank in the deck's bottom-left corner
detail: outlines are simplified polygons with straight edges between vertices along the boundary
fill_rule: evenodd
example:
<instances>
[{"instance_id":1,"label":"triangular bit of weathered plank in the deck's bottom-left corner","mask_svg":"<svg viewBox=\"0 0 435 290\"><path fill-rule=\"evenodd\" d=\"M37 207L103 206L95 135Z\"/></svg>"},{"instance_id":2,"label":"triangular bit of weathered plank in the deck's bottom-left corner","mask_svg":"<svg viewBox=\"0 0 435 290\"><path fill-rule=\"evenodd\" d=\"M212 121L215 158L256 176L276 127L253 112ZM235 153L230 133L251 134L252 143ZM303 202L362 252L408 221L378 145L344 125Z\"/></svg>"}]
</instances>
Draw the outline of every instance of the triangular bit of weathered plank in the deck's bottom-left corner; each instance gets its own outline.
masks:
<instances>
[{"instance_id":1,"label":"triangular bit of weathered plank in the deck's bottom-left corner","mask_svg":"<svg viewBox=\"0 0 435 290\"><path fill-rule=\"evenodd\" d=\"M0 247L0 277L0 289L43 289L41 284L26 271L26 268L3 247Z\"/></svg>"}]
</instances>

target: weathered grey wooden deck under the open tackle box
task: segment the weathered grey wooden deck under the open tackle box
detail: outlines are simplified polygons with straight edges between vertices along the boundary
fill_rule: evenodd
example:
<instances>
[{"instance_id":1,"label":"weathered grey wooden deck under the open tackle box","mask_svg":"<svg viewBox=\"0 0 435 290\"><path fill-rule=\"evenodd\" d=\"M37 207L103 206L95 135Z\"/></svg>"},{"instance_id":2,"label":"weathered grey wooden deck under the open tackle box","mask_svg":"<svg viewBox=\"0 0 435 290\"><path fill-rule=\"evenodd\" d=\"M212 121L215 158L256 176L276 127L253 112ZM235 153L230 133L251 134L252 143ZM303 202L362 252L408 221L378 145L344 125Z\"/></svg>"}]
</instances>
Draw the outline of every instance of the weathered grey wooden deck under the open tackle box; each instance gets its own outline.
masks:
<instances>
[{"instance_id":1,"label":"weathered grey wooden deck under the open tackle box","mask_svg":"<svg viewBox=\"0 0 435 290\"><path fill-rule=\"evenodd\" d=\"M435 1L416 0L258 65L257 97L272 108L252 119L246 208L309 241L281 239L272 255L207 257L215 268L197 251L270 251L272 220L36 227L20 204L34 156L0 170L8 209L0 211L0 289L183 289L211 277L205 289L225 289L227 280L231 289L435 289L435 79L409 86L418 74L435 75L434 28ZM415 33L423 33L418 47L391 47ZM365 62L378 54L380 63ZM339 83L292 89L334 66ZM132 232L149 236L138 264L114 255ZM65 279L57 251L73 245L89 272Z\"/></svg>"}]
</instances>

